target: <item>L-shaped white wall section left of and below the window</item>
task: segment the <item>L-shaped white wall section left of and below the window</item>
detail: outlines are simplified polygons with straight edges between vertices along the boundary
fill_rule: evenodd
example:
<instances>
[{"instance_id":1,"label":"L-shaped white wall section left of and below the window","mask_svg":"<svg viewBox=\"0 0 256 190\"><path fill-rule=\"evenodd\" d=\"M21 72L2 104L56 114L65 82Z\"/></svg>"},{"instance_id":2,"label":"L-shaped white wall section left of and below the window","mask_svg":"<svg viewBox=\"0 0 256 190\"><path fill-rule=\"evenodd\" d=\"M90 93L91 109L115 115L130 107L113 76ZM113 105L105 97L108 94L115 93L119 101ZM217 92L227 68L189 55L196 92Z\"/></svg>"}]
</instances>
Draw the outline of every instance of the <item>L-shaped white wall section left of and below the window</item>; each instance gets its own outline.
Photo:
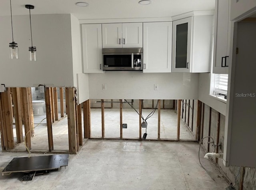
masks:
<instances>
[{"instance_id":1,"label":"L-shaped white wall section left of and below the window","mask_svg":"<svg viewBox=\"0 0 256 190\"><path fill-rule=\"evenodd\" d=\"M204 102L208 106L212 107L214 110L220 112L224 116L226 115L226 103L217 100L216 98L210 96L210 84L211 84L211 74L210 73L200 73L199 74L199 90L198 90L198 100Z\"/></svg>"}]
</instances>

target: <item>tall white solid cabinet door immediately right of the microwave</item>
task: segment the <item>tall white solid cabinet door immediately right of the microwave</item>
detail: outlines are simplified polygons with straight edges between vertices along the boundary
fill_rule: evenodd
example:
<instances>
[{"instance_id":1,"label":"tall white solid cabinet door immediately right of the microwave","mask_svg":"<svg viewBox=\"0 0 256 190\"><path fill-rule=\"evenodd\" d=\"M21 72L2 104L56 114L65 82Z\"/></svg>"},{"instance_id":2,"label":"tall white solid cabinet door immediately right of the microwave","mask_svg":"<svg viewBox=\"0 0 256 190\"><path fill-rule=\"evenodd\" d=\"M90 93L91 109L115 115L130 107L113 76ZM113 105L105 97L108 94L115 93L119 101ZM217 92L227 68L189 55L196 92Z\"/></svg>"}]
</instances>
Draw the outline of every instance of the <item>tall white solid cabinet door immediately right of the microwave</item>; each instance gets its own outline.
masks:
<instances>
[{"instance_id":1,"label":"tall white solid cabinet door immediately right of the microwave","mask_svg":"<svg viewBox=\"0 0 256 190\"><path fill-rule=\"evenodd\" d=\"M172 22L143 23L143 72L171 72Z\"/></svg>"}]
</instances>

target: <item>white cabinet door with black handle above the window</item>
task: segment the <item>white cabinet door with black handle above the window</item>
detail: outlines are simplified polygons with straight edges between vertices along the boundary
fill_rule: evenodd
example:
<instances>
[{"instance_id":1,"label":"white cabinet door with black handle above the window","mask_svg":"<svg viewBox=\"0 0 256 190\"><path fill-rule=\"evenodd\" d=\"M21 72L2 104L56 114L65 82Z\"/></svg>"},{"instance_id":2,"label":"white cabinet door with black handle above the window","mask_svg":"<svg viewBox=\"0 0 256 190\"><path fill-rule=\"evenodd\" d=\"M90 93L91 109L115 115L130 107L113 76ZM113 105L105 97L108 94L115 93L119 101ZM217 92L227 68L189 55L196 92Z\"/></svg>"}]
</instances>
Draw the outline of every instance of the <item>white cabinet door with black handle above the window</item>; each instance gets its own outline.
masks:
<instances>
[{"instance_id":1,"label":"white cabinet door with black handle above the window","mask_svg":"<svg viewBox=\"0 0 256 190\"><path fill-rule=\"evenodd\" d=\"M214 23L214 57L212 72L228 74L229 0L216 0Z\"/></svg>"}]
</instances>

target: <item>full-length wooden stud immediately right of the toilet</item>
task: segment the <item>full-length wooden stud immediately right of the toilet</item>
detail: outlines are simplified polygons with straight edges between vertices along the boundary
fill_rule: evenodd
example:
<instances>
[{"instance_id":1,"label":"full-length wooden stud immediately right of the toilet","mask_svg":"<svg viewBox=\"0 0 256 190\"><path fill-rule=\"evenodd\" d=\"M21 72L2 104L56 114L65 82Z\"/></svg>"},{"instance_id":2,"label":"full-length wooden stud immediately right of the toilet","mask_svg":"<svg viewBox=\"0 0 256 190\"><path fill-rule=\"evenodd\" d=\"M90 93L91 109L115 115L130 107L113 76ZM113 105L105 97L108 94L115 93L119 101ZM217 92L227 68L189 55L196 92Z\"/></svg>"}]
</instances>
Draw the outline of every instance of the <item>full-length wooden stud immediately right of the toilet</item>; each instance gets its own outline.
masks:
<instances>
[{"instance_id":1,"label":"full-length wooden stud immediately right of the toilet","mask_svg":"<svg viewBox=\"0 0 256 190\"><path fill-rule=\"evenodd\" d=\"M52 135L52 104L51 104L51 88L44 87L45 108L46 108L46 121L48 132L48 147L49 151L53 150L53 135Z\"/></svg>"}]
</instances>

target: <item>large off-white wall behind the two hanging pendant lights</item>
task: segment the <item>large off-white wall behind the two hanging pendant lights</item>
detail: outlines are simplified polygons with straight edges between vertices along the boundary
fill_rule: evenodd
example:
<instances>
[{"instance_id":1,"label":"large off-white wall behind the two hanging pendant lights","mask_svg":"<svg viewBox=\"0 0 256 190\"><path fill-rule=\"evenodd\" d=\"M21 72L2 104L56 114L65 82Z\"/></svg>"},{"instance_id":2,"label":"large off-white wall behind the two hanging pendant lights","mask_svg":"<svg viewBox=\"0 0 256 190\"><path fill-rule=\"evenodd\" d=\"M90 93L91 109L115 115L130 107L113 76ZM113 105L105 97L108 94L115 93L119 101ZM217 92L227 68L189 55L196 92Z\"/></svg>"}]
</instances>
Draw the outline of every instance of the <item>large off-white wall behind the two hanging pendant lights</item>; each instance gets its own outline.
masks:
<instances>
[{"instance_id":1,"label":"large off-white wall behind the two hanging pendant lights","mask_svg":"<svg viewBox=\"0 0 256 190\"><path fill-rule=\"evenodd\" d=\"M14 41L20 59L10 60L10 16L0 17L0 83L6 86L74 86L70 14L31 15L33 46L37 61L28 61L30 22L28 15L13 16Z\"/></svg>"}]
</instances>

